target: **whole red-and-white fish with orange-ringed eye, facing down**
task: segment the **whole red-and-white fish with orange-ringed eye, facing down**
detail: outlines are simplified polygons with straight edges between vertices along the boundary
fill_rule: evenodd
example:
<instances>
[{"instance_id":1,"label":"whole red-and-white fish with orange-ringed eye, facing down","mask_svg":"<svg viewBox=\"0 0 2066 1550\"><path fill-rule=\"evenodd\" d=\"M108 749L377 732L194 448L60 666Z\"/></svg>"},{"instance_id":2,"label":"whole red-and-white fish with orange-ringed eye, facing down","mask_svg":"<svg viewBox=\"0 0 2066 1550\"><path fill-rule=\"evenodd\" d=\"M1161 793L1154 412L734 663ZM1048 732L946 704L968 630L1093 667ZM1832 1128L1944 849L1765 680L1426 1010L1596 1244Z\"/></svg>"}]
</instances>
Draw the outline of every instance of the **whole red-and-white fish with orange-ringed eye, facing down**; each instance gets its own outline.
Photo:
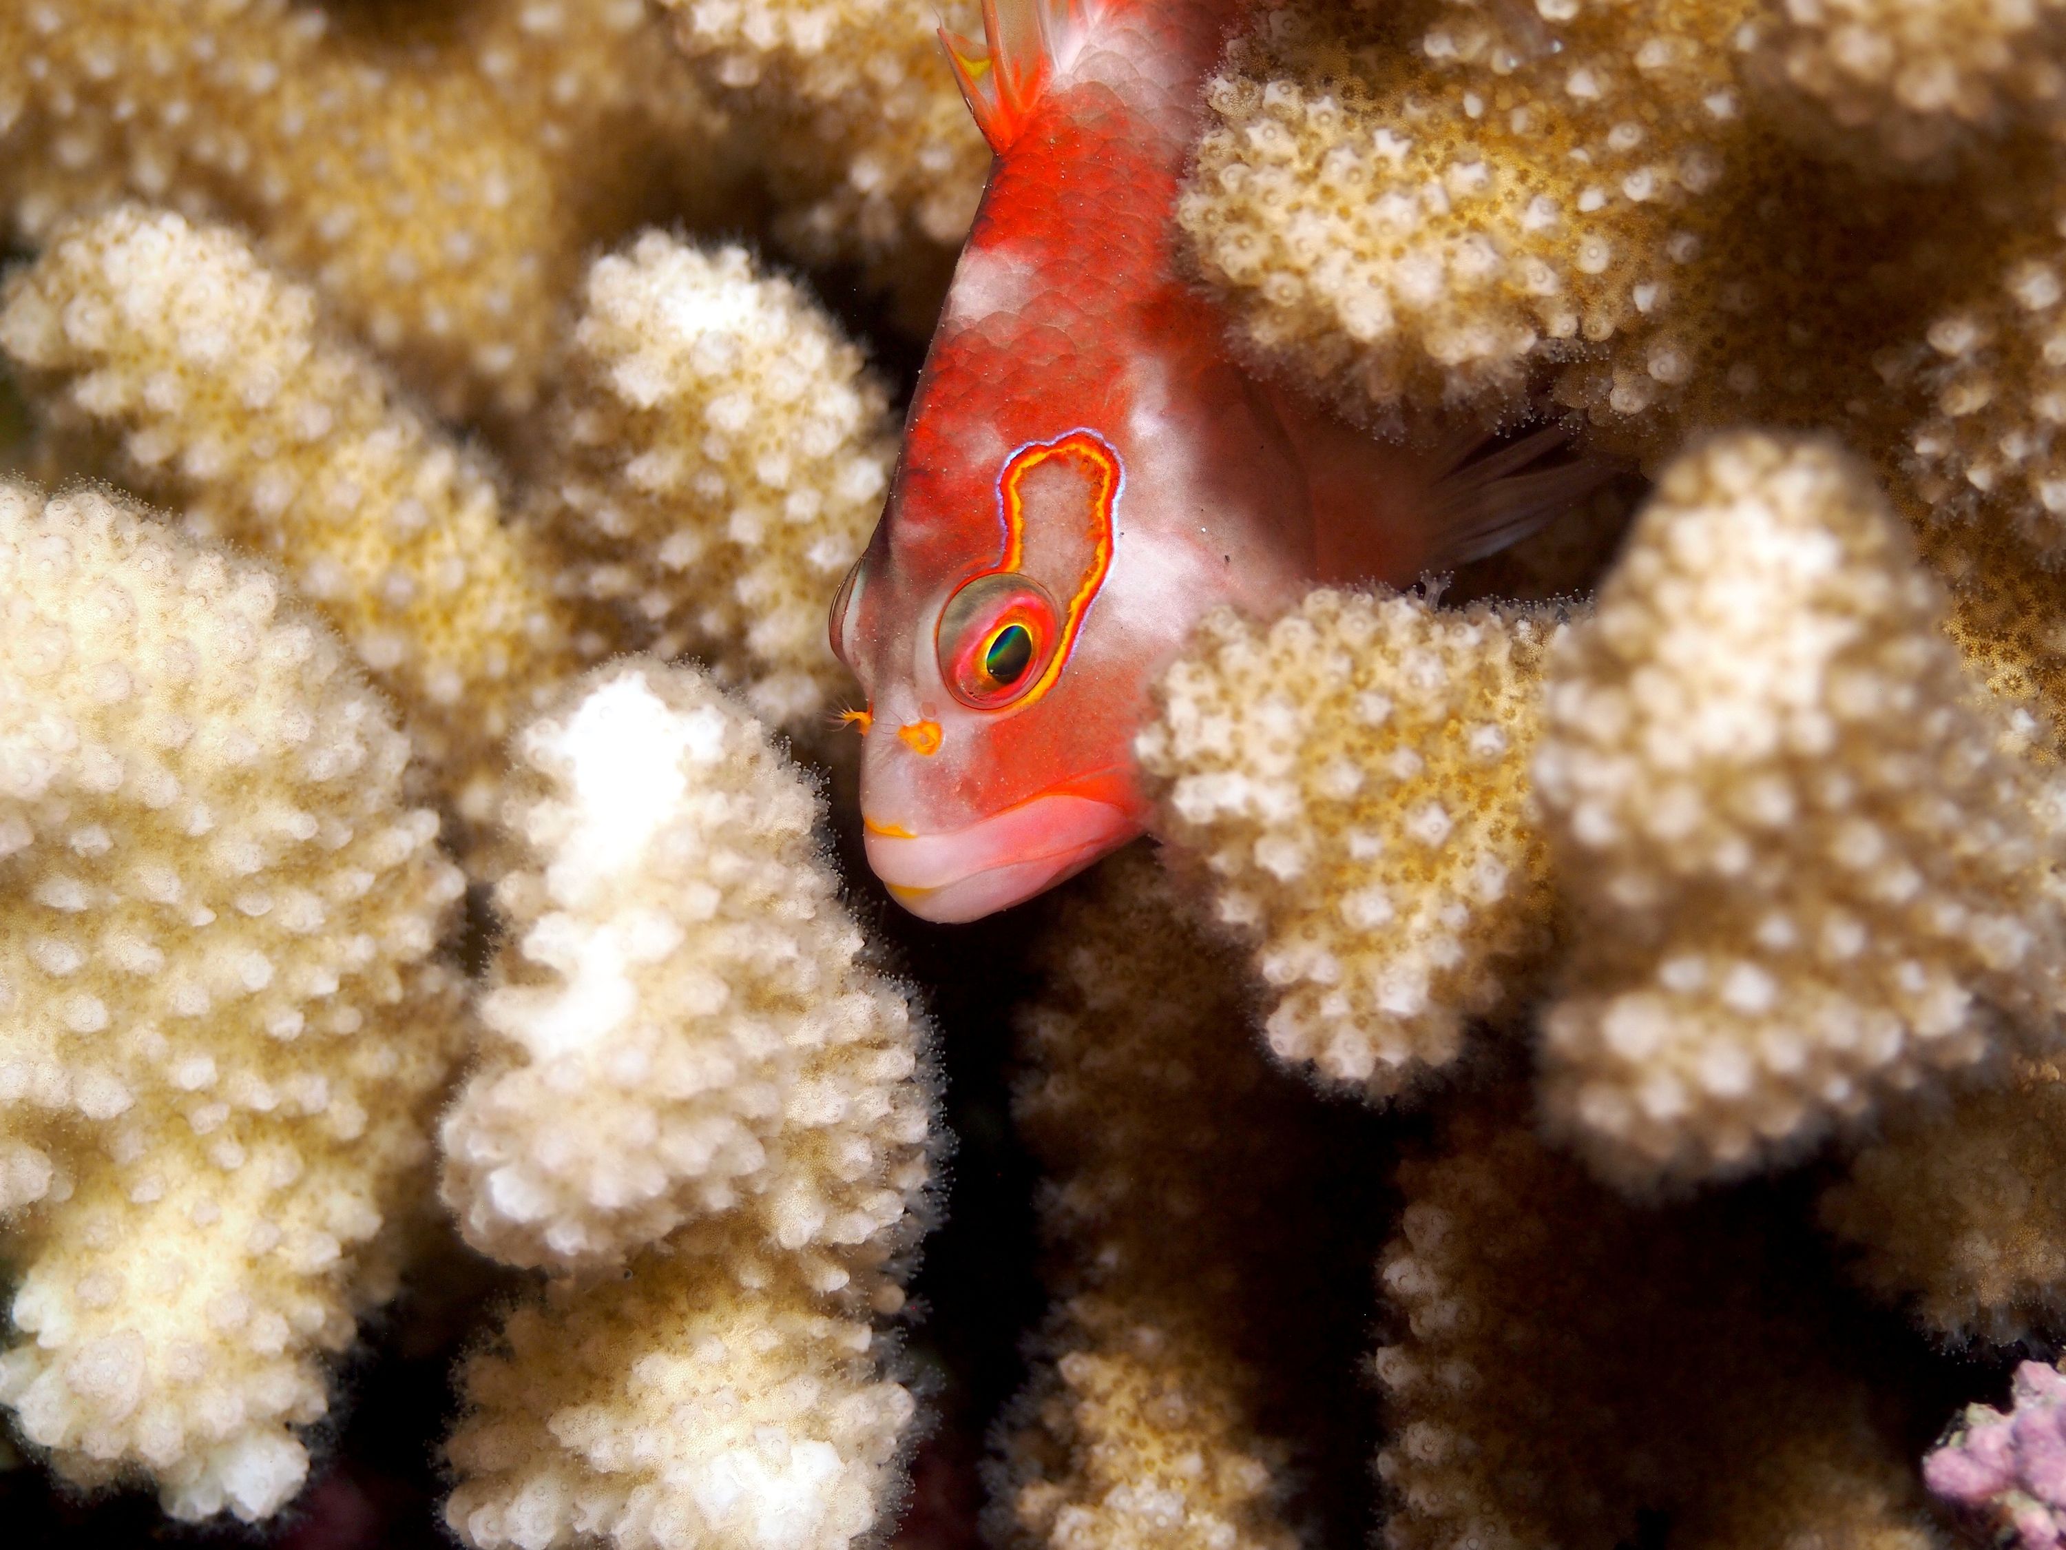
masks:
<instances>
[{"instance_id":1,"label":"whole red-and-white fish with orange-ringed eye, facing down","mask_svg":"<svg viewBox=\"0 0 2066 1550\"><path fill-rule=\"evenodd\" d=\"M1142 831L1132 740L1207 610L1409 583L1498 548L1558 477L1459 500L1440 459L1231 358L1171 213L1238 19L1240 0L985 0L985 43L942 31L996 161L831 614L868 692L868 862L926 920L1002 909Z\"/></svg>"}]
</instances>

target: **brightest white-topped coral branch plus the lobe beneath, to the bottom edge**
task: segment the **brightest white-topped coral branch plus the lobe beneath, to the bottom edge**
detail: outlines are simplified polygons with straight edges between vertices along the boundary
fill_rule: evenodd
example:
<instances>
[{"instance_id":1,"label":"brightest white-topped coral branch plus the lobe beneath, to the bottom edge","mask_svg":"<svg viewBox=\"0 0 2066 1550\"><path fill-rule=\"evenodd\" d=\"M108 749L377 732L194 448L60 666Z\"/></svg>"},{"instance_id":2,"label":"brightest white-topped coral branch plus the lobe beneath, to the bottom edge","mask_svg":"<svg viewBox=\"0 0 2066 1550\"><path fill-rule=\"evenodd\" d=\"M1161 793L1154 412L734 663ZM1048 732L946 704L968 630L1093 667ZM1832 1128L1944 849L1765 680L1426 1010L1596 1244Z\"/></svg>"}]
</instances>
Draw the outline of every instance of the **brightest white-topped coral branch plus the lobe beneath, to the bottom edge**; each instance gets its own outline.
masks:
<instances>
[{"instance_id":1,"label":"brightest white-topped coral branch plus the lobe beneath, to the bottom edge","mask_svg":"<svg viewBox=\"0 0 2066 1550\"><path fill-rule=\"evenodd\" d=\"M533 860L444 1192L510 1263L632 1259L467 1364L446 1519L481 1550L837 1550L913 1414L868 1316L924 1221L919 1023L862 963L810 785L705 676L601 670L516 746Z\"/></svg>"}]
</instances>

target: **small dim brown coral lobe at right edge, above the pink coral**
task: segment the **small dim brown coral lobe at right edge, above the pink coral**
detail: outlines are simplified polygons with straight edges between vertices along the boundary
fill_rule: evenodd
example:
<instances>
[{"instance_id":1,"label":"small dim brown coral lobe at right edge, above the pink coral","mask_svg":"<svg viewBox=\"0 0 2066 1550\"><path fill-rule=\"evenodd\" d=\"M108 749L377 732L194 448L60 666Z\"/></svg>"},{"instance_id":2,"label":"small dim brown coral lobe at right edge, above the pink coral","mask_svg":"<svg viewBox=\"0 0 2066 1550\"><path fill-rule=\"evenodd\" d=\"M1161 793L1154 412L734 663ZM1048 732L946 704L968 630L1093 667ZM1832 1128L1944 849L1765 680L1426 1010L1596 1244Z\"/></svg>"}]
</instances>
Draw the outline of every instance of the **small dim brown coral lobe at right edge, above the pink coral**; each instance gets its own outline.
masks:
<instances>
[{"instance_id":1,"label":"small dim brown coral lobe at right edge, above the pink coral","mask_svg":"<svg viewBox=\"0 0 2066 1550\"><path fill-rule=\"evenodd\" d=\"M1857 1279L1950 1341L2045 1339L2066 1314L2066 1073L1895 1116L1822 1195Z\"/></svg>"}]
</instances>

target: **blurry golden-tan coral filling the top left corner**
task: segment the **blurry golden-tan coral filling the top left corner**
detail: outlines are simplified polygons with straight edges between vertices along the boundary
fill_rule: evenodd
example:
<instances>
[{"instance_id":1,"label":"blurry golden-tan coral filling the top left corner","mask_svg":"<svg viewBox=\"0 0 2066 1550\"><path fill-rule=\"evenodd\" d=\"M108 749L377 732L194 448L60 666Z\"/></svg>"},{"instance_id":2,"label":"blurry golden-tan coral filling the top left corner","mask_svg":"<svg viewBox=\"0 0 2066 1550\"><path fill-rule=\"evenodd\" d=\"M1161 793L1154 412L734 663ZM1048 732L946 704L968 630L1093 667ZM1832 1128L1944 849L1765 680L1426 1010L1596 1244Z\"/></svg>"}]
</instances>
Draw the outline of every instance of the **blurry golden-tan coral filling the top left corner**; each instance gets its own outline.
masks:
<instances>
[{"instance_id":1,"label":"blurry golden-tan coral filling the top left corner","mask_svg":"<svg viewBox=\"0 0 2066 1550\"><path fill-rule=\"evenodd\" d=\"M444 413L531 403L583 250L715 198L717 132L638 0L0 10L17 242L122 196L236 219Z\"/></svg>"}]
</instances>

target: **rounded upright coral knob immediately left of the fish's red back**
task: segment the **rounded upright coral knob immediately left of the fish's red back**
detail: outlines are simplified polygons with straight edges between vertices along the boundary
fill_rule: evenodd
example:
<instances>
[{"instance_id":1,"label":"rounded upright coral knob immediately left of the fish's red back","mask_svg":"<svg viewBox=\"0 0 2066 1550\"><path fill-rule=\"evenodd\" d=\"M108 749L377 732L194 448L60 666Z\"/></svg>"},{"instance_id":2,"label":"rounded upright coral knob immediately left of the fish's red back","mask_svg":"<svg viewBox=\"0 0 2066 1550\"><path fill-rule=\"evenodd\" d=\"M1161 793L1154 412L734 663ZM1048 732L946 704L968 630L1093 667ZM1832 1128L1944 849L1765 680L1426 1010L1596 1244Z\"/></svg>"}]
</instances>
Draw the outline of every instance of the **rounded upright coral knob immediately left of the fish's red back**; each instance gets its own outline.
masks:
<instances>
[{"instance_id":1,"label":"rounded upright coral knob immediately left of the fish's red back","mask_svg":"<svg viewBox=\"0 0 2066 1550\"><path fill-rule=\"evenodd\" d=\"M806 725L845 682L824 606L897 457L880 382L740 248L647 234L597 260L585 302L539 521L626 634L707 655L760 715Z\"/></svg>"}]
</instances>

